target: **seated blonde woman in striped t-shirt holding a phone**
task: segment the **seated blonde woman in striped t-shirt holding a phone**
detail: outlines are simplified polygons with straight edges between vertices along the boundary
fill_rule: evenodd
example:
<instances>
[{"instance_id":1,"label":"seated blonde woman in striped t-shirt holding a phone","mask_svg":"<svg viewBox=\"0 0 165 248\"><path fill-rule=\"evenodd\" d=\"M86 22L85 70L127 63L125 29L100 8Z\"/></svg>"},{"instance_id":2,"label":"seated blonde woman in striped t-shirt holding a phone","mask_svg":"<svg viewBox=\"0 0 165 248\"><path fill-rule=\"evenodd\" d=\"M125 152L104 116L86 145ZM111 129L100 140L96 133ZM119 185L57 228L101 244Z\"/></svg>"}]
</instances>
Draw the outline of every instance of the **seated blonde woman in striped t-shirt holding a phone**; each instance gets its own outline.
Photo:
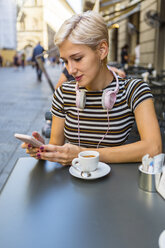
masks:
<instances>
[{"instance_id":1,"label":"seated blonde woman in striped t-shirt holding a phone","mask_svg":"<svg viewBox=\"0 0 165 248\"><path fill-rule=\"evenodd\" d=\"M150 88L139 79L118 79L106 65L108 30L92 11L65 21L55 36L60 56L74 78L56 89L50 142L23 144L32 157L71 165L82 150L97 150L106 163L141 161L161 153L161 135ZM125 144L136 121L140 140ZM42 137L33 132L36 139Z\"/></svg>"}]
</instances>

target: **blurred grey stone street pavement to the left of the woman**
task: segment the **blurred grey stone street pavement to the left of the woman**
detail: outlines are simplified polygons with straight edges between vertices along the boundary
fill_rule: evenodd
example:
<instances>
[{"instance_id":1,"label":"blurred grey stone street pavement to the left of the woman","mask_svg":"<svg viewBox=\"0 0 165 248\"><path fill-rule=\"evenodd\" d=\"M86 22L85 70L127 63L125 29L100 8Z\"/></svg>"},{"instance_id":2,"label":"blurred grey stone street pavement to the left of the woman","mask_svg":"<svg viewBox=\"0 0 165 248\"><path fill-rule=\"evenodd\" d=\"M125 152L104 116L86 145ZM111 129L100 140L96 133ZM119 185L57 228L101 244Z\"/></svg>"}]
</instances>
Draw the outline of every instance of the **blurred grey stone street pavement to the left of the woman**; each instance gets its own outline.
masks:
<instances>
[{"instance_id":1,"label":"blurred grey stone street pavement to the left of the woman","mask_svg":"<svg viewBox=\"0 0 165 248\"><path fill-rule=\"evenodd\" d=\"M46 70L55 85L62 67L47 66ZM37 82L31 66L24 70L0 68L0 190L17 159L28 156L14 133L41 132L52 94L44 75L42 82Z\"/></svg>"}]
</instances>

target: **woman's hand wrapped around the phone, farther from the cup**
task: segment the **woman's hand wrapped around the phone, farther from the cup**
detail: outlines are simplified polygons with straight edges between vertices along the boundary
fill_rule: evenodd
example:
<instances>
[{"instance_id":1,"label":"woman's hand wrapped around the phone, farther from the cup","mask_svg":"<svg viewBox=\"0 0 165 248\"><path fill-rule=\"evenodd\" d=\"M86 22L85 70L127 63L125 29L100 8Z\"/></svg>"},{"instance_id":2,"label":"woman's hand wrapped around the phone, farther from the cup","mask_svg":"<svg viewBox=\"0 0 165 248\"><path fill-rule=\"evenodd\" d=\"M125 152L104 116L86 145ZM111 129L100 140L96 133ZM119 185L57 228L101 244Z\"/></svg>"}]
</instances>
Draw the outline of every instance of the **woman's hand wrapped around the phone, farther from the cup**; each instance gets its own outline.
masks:
<instances>
[{"instance_id":1,"label":"woman's hand wrapped around the phone, farther from the cup","mask_svg":"<svg viewBox=\"0 0 165 248\"><path fill-rule=\"evenodd\" d=\"M41 135L38 132L33 132L32 136L35 139L41 141L43 144L45 143L43 137L41 137ZM28 143L23 143L21 147L23 149L26 149L26 153L29 154L31 157L39 159L39 157L37 156L37 153L40 152L39 148L33 147L31 144Z\"/></svg>"}]
</instances>

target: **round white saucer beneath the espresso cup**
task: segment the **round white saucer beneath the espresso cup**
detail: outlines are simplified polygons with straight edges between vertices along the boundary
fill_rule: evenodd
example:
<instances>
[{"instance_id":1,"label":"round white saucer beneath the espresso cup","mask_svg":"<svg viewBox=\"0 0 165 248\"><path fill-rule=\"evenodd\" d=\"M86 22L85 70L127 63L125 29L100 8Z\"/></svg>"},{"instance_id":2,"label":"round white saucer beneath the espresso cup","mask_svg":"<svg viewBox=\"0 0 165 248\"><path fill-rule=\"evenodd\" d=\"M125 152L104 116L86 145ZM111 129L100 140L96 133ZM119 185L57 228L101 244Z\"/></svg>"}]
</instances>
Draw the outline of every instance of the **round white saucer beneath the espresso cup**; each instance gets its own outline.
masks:
<instances>
[{"instance_id":1,"label":"round white saucer beneath the espresso cup","mask_svg":"<svg viewBox=\"0 0 165 248\"><path fill-rule=\"evenodd\" d=\"M90 177L82 177L81 172L76 170L73 166L71 166L69 168L69 172L70 172L70 174L72 176L78 177L78 178L81 178L81 179L85 179L85 180L93 180L93 179L97 179L97 178L100 178L100 177L104 177L108 173L110 173L110 171L111 171L111 167L109 165L105 164L105 163L102 163L102 162L99 162L97 170L92 171Z\"/></svg>"}]
</instances>

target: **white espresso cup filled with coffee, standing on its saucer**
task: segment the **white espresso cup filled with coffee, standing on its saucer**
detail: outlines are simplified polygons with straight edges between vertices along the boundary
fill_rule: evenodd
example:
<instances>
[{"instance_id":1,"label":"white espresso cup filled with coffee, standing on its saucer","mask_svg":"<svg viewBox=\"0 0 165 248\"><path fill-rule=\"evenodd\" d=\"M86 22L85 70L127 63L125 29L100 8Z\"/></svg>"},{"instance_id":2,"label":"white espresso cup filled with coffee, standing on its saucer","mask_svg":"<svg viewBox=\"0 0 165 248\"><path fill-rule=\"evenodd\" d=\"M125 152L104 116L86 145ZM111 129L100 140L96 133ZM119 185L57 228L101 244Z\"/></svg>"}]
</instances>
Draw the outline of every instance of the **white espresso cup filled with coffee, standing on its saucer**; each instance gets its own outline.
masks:
<instances>
[{"instance_id":1,"label":"white espresso cup filled with coffee, standing on its saucer","mask_svg":"<svg viewBox=\"0 0 165 248\"><path fill-rule=\"evenodd\" d=\"M99 152L83 151L78 154L78 158L72 161L73 167L78 167L81 171L95 171L99 163Z\"/></svg>"}]
</instances>

